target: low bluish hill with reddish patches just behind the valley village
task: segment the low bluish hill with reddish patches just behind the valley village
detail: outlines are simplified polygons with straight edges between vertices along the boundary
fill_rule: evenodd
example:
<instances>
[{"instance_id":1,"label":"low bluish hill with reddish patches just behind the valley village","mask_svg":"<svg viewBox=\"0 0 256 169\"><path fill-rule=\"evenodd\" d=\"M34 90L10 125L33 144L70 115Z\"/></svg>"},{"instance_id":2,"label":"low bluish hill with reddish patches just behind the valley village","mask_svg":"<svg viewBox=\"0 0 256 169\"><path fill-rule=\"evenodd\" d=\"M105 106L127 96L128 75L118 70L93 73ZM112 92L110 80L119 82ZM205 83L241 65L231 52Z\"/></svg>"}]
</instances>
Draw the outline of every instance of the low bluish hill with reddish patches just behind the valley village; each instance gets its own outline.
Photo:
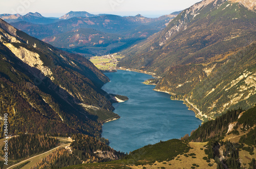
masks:
<instances>
[{"instance_id":1,"label":"low bluish hill with reddish patches just behind the valley village","mask_svg":"<svg viewBox=\"0 0 256 169\"><path fill-rule=\"evenodd\" d=\"M42 41L47 42L63 50L98 55L109 53L113 47L121 47L125 38L121 35L103 33L94 29L81 28L75 31L46 37Z\"/></svg>"}]
</instances>

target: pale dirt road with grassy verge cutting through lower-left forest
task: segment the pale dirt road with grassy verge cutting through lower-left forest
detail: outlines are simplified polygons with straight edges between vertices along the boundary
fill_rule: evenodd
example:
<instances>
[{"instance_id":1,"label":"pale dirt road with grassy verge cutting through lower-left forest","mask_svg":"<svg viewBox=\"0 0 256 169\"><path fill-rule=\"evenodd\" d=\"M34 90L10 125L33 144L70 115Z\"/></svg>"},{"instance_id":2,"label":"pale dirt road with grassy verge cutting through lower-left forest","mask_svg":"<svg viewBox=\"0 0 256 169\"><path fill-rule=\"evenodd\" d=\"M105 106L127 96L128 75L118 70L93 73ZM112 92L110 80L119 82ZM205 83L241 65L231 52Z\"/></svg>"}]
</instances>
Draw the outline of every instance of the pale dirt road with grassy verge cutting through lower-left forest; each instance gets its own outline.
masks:
<instances>
[{"instance_id":1,"label":"pale dirt road with grassy verge cutting through lower-left forest","mask_svg":"<svg viewBox=\"0 0 256 169\"><path fill-rule=\"evenodd\" d=\"M58 138L58 139L63 139L63 140L70 141L70 139L65 139L65 138ZM48 156L49 154L51 154L52 152L54 152L56 149L61 148L61 147L70 146L70 144L71 144L71 143L68 143L68 144L65 144L65 145L60 145L60 146L58 146L58 147L56 147L56 148L54 148L54 149L51 149L51 150L49 150L49 151L47 151L47 152L45 152L45 153L38 154L38 155L36 155L36 156L34 156L34 157L31 157L31 158L29 158L29 159L20 161L20 162L17 163L17 164L14 164L14 165L12 165L12 166L9 166L7 169L14 168L14 167L16 167L16 166L18 166L18 165L20 165L20 164L26 162L26 161L31 161L31 162L29 162L28 164L26 164L26 165L25 165L24 167L22 167L22 168L25 168L25 167L26 167L26 168L33 167L37 162L40 162L40 161L42 160L42 158L45 158L46 156Z\"/></svg>"}]
</instances>

